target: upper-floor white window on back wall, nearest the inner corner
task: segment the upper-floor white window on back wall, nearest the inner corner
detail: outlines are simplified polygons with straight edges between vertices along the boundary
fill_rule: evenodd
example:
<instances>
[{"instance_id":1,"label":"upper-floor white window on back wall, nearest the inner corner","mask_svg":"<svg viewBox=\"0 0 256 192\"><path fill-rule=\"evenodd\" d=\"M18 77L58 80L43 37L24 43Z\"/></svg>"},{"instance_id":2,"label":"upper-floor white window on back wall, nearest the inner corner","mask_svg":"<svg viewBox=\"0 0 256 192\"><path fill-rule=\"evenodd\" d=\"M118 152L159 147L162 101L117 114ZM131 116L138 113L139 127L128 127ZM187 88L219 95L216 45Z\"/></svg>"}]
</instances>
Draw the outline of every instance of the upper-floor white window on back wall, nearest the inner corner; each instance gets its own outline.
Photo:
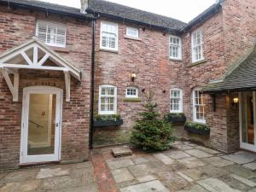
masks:
<instances>
[{"instance_id":1,"label":"upper-floor white window on back wall, nearest the inner corner","mask_svg":"<svg viewBox=\"0 0 256 192\"><path fill-rule=\"evenodd\" d=\"M182 59L182 43L181 38L176 36L170 36L169 40L170 59L181 60Z\"/></svg>"}]
</instances>

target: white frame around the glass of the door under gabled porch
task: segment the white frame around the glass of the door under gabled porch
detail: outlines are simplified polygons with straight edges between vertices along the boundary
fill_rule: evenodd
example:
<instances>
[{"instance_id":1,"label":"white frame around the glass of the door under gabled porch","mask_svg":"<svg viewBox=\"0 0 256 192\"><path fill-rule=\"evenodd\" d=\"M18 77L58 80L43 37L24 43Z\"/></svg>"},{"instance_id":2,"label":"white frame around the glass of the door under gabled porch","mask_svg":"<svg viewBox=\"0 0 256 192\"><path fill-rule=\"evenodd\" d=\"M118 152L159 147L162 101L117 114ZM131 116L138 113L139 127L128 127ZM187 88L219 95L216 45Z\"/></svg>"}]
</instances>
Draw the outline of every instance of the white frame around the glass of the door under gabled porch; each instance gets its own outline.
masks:
<instances>
[{"instance_id":1,"label":"white frame around the glass of the door under gabled porch","mask_svg":"<svg viewBox=\"0 0 256 192\"><path fill-rule=\"evenodd\" d=\"M55 154L27 155L27 134L30 94L55 94ZM38 163L61 160L61 122L62 122L63 90L49 86L32 86L23 90L21 134L20 134L20 164Z\"/></svg>"}]
</instances>

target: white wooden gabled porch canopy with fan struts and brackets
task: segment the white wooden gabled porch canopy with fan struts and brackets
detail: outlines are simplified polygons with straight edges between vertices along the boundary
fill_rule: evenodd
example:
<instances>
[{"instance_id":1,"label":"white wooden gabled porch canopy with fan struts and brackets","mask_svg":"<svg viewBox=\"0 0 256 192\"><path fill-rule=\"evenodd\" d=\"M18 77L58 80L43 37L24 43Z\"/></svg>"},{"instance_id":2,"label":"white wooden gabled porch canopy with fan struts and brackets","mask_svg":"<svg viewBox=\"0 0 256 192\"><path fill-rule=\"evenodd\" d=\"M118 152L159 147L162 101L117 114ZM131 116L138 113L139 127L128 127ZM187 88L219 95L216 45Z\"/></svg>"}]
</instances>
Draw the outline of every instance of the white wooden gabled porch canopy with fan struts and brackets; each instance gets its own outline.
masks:
<instances>
[{"instance_id":1,"label":"white wooden gabled porch canopy with fan struts and brackets","mask_svg":"<svg viewBox=\"0 0 256 192\"><path fill-rule=\"evenodd\" d=\"M81 80L81 71L78 68L35 37L0 55L0 71L9 86L14 102L18 102L19 96L19 69L63 72L66 84L66 102L70 101L70 75ZM13 75L13 81L9 75Z\"/></svg>"}]
</instances>

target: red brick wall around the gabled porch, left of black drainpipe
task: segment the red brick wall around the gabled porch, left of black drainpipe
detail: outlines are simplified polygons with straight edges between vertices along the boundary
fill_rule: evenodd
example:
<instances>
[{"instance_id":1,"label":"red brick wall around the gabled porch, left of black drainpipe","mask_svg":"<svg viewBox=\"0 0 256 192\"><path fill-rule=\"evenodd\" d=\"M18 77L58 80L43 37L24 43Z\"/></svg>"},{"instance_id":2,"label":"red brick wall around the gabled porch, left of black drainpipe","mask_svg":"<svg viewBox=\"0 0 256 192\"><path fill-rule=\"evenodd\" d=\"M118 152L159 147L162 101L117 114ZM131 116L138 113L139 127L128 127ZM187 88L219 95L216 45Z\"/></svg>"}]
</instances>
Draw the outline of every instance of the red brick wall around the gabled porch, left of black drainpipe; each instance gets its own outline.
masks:
<instances>
[{"instance_id":1,"label":"red brick wall around the gabled porch, left of black drainpipe","mask_svg":"<svg viewBox=\"0 0 256 192\"><path fill-rule=\"evenodd\" d=\"M30 12L25 9L0 8L0 53L11 49L35 34L36 20L60 22L67 26L67 52L58 52L83 72L80 85L72 78L71 101L65 100L62 73L20 70L19 102L12 102L9 88L0 76L0 168L18 166L20 158L20 122L23 88L49 85L64 90L61 160L84 160L88 155L90 111L90 21L63 15Z\"/></svg>"}]
</instances>

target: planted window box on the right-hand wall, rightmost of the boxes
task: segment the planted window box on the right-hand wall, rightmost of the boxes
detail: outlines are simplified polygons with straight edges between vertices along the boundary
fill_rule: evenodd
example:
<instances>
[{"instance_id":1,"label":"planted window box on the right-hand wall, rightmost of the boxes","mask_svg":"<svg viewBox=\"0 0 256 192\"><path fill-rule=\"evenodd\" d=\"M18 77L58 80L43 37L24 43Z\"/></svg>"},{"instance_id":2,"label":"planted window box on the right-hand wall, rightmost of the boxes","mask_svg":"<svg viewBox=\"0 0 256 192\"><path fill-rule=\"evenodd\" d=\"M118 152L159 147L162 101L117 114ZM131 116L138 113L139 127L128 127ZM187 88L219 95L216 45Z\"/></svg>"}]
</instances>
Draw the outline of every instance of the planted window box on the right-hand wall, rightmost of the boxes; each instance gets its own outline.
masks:
<instances>
[{"instance_id":1,"label":"planted window box on the right-hand wall, rightmost of the boxes","mask_svg":"<svg viewBox=\"0 0 256 192\"><path fill-rule=\"evenodd\" d=\"M184 129L201 136L210 136L210 128L207 125L187 122Z\"/></svg>"}]
</instances>

